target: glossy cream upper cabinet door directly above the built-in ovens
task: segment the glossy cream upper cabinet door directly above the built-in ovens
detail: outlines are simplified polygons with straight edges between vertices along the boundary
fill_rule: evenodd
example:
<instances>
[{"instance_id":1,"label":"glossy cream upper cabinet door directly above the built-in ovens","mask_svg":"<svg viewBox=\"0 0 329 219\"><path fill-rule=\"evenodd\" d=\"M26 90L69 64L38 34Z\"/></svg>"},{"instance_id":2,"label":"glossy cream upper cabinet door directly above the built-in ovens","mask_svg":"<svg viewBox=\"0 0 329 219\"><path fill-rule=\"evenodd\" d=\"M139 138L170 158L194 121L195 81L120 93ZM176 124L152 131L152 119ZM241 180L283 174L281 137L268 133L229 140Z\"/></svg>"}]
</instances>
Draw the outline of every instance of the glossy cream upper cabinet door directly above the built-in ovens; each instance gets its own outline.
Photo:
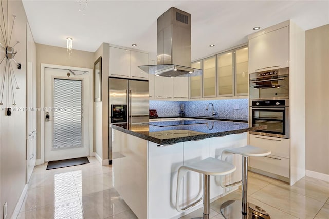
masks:
<instances>
[{"instance_id":1,"label":"glossy cream upper cabinet door directly above the built-in ovens","mask_svg":"<svg viewBox=\"0 0 329 219\"><path fill-rule=\"evenodd\" d=\"M289 28L249 39L249 72L289 67Z\"/></svg>"}]
</instances>

